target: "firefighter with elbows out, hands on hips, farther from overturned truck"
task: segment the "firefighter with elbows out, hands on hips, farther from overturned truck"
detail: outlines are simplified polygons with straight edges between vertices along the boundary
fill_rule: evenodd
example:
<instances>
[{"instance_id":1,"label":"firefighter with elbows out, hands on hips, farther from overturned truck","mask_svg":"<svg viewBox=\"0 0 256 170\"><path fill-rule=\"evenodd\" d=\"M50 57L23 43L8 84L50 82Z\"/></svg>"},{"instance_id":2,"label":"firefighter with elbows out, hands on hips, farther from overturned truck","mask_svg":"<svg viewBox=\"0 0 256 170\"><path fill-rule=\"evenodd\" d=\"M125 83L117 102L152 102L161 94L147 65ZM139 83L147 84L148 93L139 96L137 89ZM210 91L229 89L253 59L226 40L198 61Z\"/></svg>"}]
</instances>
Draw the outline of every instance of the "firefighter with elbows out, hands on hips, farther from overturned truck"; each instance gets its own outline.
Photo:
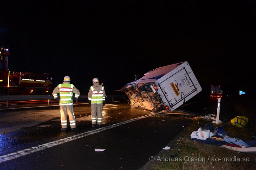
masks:
<instances>
[{"instance_id":1,"label":"firefighter with elbows out, hands on hips, farther from overturned truck","mask_svg":"<svg viewBox=\"0 0 256 170\"><path fill-rule=\"evenodd\" d=\"M70 77L67 75L64 77L64 82L59 84L52 92L54 99L58 97L60 93L60 121L61 130L67 130L67 112L69 118L69 124L71 130L77 130L76 118L74 115L73 108L73 93L75 93L75 98L78 98L80 92L73 84L70 84Z\"/></svg>"}]
</instances>

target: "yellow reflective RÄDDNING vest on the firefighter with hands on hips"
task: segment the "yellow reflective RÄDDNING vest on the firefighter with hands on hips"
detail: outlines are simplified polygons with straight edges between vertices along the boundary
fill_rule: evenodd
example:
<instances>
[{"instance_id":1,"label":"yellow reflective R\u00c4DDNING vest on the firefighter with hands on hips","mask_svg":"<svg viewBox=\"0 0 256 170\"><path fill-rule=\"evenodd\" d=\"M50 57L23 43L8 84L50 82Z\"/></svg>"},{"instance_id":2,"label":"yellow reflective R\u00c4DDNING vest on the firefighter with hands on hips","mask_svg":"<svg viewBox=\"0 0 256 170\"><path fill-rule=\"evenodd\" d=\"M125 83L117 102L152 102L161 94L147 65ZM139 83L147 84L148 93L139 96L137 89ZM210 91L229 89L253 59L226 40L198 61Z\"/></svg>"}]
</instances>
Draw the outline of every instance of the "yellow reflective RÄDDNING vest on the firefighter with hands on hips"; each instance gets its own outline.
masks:
<instances>
[{"instance_id":1,"label":"yellow reflective R\u00c4DDNING vest on the firefighter with hands on hips","mask_svg":"<svg viewBox=\"0 0 256 170\"><path fill-rule=\"evenodd\" d=\"M58 85L60 91L60 104L71 104L73 103L73 84L62 83Z\"/></svg>"}]
</instances>

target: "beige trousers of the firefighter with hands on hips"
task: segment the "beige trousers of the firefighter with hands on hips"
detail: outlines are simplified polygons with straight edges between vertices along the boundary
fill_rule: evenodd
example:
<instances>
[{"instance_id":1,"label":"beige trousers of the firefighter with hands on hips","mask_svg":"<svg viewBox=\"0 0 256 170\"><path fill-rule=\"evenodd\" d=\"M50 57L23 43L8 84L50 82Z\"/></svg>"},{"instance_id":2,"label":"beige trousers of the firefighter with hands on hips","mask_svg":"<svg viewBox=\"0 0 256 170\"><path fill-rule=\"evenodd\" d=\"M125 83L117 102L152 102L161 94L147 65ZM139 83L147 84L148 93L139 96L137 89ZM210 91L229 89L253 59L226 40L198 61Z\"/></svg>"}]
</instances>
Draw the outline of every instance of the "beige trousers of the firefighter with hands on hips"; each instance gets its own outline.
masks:
<instances>
[{"instance_id":1,"label":"beige trousers of the firefighter with hands on hips","mask_svg":"<svg viewBox=\"0 0 256 170\"><path fill-rule=\"evenodd\" d=\"M70 128L76 128L76 118L74 115L73 105L60 105L61 128L67 128L67 112Z\"/></svg>"}]
</instances>

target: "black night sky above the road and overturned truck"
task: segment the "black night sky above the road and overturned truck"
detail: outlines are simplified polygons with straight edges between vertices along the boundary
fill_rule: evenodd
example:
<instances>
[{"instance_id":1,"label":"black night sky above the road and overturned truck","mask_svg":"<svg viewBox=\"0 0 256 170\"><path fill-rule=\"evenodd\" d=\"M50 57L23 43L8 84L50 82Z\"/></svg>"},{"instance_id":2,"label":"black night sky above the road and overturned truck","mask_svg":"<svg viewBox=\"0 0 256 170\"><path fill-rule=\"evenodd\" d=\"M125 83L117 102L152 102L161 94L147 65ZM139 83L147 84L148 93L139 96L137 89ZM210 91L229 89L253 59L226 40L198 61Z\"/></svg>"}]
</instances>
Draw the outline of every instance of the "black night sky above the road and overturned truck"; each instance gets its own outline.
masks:
<instances>
[{"instance_id":1,"label":"black night sky above the road and overturned truck","mask_svg":"<svg viewBox=\"0 0 256 170\"><path fill-rule=\"evenodd\" d=\"M255 94L255 7L164 3L1 4L0 45L11 71L65 75L79 89L94 77L120 89L134 75L188 61L203 90Z\"/></svg>"}]
</instances>

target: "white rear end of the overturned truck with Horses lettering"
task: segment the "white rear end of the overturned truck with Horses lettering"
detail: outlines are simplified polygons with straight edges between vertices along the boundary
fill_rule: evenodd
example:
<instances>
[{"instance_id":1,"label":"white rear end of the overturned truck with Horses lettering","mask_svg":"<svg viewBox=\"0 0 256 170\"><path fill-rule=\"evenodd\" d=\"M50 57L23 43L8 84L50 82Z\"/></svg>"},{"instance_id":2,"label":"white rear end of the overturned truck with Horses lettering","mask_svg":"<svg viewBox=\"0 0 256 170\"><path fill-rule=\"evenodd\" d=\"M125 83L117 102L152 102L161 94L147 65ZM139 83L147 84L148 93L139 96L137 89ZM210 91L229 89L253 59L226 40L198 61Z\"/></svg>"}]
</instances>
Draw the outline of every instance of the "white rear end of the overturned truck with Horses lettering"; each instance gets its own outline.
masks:
<instances>
[{"instance_id":1,"label":"white rear end of the overturned truck with Horses lettering","mask_svg":"<svg viewBox=\"0 0 256 170\"><path fill-rule=\"evenodd\" d=\"M173 111L202 91L188 62L184 62L156 82L164 106Z\"/></svg>"}]
</instances>

